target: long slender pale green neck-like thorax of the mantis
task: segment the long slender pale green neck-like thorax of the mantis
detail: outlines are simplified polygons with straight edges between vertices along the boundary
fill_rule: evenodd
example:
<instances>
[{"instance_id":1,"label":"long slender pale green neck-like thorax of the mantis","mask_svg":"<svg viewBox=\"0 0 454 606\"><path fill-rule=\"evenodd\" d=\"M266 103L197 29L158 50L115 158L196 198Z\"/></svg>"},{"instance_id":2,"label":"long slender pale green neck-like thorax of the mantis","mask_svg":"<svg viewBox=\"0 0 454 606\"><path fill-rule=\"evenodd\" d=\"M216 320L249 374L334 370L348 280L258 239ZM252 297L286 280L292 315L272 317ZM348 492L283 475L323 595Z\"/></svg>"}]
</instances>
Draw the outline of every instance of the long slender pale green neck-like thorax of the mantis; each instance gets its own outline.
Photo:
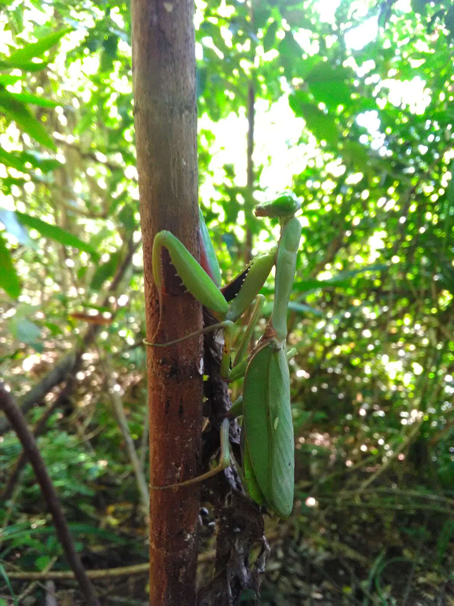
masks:
<instances>
[{"instance_id":1,"label":"long slender pale green neck-like thorax of the mantis","mask_svg":"<svg viewBox=\"0 0 454 606\"><path fill-rule=\"evenodd\" d=\"M287 338L287 308L295 279L300 239L301 224L292 217L282 228L276 257L274 307L270 324L280 341Z\"/></svg>"}]
</instances>

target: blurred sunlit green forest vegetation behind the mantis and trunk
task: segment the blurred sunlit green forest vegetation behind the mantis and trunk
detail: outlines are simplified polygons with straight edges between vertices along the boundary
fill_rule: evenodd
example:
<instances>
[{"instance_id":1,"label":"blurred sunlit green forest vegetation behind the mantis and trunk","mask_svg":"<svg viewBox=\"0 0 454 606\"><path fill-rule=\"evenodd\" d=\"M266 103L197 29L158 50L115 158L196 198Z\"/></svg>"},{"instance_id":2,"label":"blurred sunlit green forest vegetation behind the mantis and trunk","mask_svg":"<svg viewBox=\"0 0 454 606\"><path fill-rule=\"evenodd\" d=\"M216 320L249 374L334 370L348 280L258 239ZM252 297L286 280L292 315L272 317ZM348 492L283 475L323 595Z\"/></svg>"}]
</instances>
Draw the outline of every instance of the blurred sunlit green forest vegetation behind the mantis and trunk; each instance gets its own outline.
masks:
<instances>
[{"instance_id":1,"label":"blurred sunlit green forest vegetation behind the mantis and trunk","mask_svg":"<svg viewBox=\"0 0 454 606\"><path fill-rule=\"evenodd\" d=\"M1 7L0 375L30 408L86 567L139 564L130 9ZM264 605L453 603L453 35L449 1L196 2L200 204L223 279L274 241L254 199L293 187L304 200L296 501L270 522ZM67 564L31 468L13 473L21 447L4 418L0 430L0 603L42 604L44 586L15 572ZM212 532L208 514L208 550ZM142 604L146 582L97 587ZM76 600L73 587L48 590Z\"/></svg>"}]
</instances>

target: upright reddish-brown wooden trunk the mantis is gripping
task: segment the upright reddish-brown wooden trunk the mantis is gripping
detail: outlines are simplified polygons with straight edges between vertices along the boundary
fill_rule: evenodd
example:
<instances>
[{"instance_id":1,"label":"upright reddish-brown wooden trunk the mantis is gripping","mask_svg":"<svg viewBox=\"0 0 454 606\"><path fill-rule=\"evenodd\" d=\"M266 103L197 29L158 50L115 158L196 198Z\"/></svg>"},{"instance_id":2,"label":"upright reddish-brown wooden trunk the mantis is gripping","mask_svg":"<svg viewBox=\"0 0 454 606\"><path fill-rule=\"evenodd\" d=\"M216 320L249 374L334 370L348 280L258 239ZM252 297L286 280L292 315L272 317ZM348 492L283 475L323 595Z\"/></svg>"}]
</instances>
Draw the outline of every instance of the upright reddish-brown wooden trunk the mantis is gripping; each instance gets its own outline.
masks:
<instances>
[{"instance_id":1,"label":"upright reddish-brown wooden trunk the mantis is gripping","mask_svg":"<svg viewBox=\"0 0 454 606\"><path fill-rule=\"evenodd\" d=\"M152 273L157 231L171 231L199 259L194 4L133 0L133 85L145 278L146 334L165 342L202 327L166 262L162 322ZM148 347L150 484L197 474L202 428L202 339ZM195 603L199 485L150 491L150 604Z\"/></svg>"}]
</instances>

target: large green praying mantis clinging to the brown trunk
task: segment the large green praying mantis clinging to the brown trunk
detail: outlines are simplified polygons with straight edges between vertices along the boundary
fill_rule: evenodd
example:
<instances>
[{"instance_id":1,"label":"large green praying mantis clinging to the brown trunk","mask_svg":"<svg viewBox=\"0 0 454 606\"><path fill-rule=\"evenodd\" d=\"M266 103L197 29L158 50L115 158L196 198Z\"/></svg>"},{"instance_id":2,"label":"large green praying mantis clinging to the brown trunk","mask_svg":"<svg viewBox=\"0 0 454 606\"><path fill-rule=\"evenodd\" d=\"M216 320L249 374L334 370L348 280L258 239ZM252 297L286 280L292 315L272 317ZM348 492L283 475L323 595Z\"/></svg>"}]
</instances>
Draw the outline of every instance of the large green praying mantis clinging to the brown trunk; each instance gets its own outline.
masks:
<instances>
[{"instance_id":1,"label":"large green praying mantis clinging to the brown trunk","mask_svg":"<svg viewBox=\"0 0 454 606\"><path fill-rule=\"evenodd\" d=\"M153 244L153 274L162 310L163 271L162 249L168 250L183 285L215 319L196 333L185 335L165 344L150 343L152 347L169 347L208 331L222 328L224 347L221 375L226 381L245 379L243 394L232 404L220 428L221 453L217 466L180 484L154 488L173 488L203 481L231 465L229 425L242 416L240 447L242 479L249 496L258 505L265 505L280 518L288 518L294 497L294 434L290 404L288 360L295 350L287 350L287 309L295 277L297 252L301 239L301 224L295 213L301 202L292 191L285 191L271 202L255 208L256 216L278 218L281 226L277 247L260 255L240 276L221 288L219 264L212 246L202 211L200 211L201 264L197 263L183 244L169 231L157 233ZM200 209L199 209L200 210ZM275 295L271 318L262 338L246 357L249 340L257 324L265 298L258 292L265 284L275 264ZM235 282L237 284L235 285ZM229 289L235 293L231 302ZM240 286L239 286L240 284ZM255 302L254 311L231 363L232 328L234 322Z\"/></svg>"}]
</instances>

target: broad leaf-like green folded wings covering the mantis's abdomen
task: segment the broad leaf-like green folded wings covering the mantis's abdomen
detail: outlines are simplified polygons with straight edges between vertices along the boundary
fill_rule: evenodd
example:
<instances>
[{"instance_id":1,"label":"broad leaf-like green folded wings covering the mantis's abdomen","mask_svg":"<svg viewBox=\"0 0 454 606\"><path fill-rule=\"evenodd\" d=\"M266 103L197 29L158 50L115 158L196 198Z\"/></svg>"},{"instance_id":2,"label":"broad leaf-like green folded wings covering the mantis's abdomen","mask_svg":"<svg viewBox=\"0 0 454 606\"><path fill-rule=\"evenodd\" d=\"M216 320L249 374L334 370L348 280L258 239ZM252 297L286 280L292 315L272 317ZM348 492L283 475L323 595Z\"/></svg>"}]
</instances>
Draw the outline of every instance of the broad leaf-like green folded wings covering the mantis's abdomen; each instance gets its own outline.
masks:
<instances>
[{"instance_id":1,"label":"broad leaf-like green folded wings covering the mantis's abdomen","mask_svg":"<svg viewBox=\"0 0 454 606\"><path fill-rule=\"evenodd\" d=\"M288 518L293 506L295 463L285 342L271 339L249 361L243 415L245 476L246 480L249 476L251 496L257 492L256 481L269 508L280 518Z\"/></svg>"}]
</instances>

